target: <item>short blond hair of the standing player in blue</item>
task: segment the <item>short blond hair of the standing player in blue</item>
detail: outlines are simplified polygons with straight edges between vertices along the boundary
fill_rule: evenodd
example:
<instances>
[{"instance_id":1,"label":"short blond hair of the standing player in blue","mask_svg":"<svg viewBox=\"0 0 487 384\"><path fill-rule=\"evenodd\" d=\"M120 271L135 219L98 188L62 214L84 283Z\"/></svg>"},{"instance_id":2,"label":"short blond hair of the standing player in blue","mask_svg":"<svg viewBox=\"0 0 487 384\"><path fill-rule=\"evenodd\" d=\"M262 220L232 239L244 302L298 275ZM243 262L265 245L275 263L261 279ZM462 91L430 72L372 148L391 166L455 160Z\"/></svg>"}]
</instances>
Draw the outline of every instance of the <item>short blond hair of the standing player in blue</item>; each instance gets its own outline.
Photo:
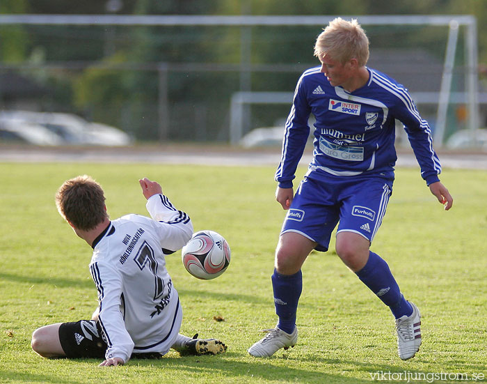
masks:
<instances>
[{"instance_id":1,"label":"short blond hair of the standing player in blue","mask_svg":"<svg viewBox=\"0 0 487 384\"><path fill-rule=\"evenodd\" d=\"M314 56L330 54L342 64L357 59L359 66L369 60L369 39L356 19L350 22L337 17L321 32L314 45Z\"/></svg>"}]
</instances>

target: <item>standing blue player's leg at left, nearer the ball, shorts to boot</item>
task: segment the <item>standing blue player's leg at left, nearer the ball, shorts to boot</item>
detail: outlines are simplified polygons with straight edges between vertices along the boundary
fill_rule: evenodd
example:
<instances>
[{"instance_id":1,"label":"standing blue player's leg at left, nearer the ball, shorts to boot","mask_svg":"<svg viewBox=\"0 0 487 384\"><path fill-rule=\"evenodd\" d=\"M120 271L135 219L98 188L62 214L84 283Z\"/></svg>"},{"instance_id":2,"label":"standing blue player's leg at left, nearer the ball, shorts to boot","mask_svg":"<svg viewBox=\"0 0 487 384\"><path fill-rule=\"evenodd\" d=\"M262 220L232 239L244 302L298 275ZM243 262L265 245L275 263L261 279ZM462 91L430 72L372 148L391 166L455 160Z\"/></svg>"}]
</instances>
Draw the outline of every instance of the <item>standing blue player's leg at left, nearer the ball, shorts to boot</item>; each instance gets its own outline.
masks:
<instances>
[{"instance_id":1,"label":"standing blue player's leg at left, nearer the ball, shorts to boot","mask_svg":"<svg viewBox=\"0 0 487 384\"><path fill-rule=\"evenodd\" d=\"M296 344L296 312L303 288L301 266L312 249L328 249L330 233L338 220L337 209L322 201L327 195L321 185L305 179L292 201L282 226L271 277L278 324L264 330L266 337L248 349L250 355L271 356L280 348Z\"/></svg>"}]
</instances>

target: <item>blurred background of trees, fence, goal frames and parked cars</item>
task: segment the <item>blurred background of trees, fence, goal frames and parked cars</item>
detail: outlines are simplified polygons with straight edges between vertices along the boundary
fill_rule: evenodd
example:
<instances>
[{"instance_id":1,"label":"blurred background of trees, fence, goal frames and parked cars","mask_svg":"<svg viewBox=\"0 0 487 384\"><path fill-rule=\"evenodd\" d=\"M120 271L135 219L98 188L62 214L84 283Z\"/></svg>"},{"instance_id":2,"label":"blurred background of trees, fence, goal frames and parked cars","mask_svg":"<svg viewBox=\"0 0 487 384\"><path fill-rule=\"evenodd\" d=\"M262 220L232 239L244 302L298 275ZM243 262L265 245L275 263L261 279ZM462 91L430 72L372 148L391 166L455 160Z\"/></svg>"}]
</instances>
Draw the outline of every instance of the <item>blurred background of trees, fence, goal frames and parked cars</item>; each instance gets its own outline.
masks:
<instances>
[{"instance_id":1,"label":"blurred background of trees, fence, goal frames and parked cars","mask_svg":"<svg viewBox=\"0 0 487 384\"><path fill-rule=\"evenodd\" d=\"M487 151L484 0L1 0L0 143L280 145L337 15L358 17L368 66L408 88L436 146Z\"/></svg>"}]
</instances>

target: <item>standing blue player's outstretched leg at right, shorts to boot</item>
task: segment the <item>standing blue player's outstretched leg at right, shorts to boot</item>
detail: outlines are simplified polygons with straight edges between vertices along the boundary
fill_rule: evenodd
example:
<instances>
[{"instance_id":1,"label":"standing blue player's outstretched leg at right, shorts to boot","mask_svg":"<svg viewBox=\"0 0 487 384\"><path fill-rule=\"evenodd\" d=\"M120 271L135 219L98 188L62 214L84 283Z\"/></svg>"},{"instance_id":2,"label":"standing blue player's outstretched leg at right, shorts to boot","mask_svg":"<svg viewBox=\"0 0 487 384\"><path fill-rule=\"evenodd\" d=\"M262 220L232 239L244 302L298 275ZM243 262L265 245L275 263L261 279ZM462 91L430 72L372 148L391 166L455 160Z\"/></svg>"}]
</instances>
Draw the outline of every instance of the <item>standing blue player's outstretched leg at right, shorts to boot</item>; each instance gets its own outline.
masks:
<instances>
[{"instance_id":1,"label":"standing blue player's outstretched leg at right, shorts to boot","mask_svg":"<svg viewBox=\"0 0 487 384\"><path fill-rule=\"evenodd\" d=\"M390 308L396 318L399 357L407 360L420 348L420 312L404 298L388 263L369 250L385 215L391 186L374 179L349 188L351 198L344 202L340 213L336 249L360 281Z\"/></svg>"}]
</instances>

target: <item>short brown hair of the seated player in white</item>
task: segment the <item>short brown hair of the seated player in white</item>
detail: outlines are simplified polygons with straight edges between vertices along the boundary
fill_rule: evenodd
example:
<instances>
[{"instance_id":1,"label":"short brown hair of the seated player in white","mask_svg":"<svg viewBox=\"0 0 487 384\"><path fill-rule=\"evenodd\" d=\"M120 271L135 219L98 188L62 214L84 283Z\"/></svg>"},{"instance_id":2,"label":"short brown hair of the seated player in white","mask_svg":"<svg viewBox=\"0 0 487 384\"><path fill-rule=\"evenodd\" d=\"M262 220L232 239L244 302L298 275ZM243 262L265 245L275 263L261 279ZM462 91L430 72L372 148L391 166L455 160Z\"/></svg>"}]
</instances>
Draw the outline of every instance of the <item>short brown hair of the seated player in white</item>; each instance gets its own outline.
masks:
<instances>
[{"instance_id":1,"label":"short brown hair of the seated player in white","mask_svg":"<svg viewBox=\"0 0 487 384\"><path fill-rule=\"evenodd\" d=\"M56 192L56 206L65 220L83 231L95 228L109 217L102 187L87 175L65 181Z\"/></svg>"}]
</instances>

